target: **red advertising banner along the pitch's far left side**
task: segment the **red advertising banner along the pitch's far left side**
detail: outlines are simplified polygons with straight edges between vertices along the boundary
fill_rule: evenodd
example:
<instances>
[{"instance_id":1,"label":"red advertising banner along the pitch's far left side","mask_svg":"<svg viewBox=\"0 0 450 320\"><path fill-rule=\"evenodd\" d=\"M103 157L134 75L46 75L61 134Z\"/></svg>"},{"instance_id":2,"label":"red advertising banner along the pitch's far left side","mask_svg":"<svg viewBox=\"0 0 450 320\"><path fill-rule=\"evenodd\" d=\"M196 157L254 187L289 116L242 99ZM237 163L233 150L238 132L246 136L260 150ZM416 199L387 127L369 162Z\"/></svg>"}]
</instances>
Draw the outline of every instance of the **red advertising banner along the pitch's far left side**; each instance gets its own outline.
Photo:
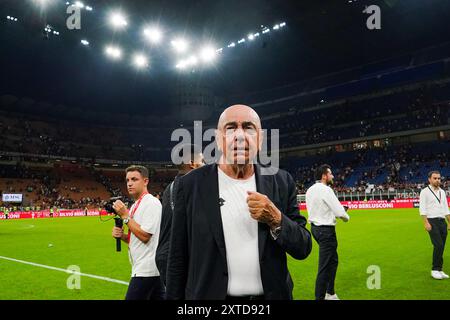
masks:
<instances>
[{"instance_id":1,"label":"red advertising banner along the pitch's far left side","mask_svg":"<svg viewBox=\"0 0 450 320\"><path fill-rule=\"evenodd\" d=\"M82 209L73 210L56 210L53 213L53 218L63 218L63 217L84 217L84 216L99 216L107 215L106 210L87 210L84 212ZM41 219L41 218L51 218L50 210L41 211L13 211L8 214L8 219ZM6 219L4 212L0 212L0 220Z\"/></svg>"}]
</instances>

